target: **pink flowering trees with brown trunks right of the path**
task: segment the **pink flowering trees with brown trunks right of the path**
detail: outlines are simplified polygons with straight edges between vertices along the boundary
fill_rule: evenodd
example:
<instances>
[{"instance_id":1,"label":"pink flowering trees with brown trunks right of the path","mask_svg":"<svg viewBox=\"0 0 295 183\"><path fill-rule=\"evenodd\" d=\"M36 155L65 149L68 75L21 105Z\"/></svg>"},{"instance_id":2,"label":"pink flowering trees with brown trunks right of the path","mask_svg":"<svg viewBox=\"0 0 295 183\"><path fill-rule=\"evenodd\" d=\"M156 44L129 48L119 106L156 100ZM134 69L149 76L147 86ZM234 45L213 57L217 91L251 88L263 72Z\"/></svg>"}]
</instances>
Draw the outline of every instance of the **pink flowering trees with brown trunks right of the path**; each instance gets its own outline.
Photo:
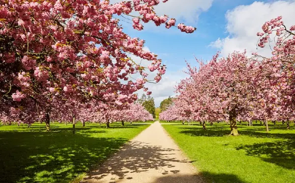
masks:
<instances>
[{"instance_id":1,"label":"pink flowering trees with brown trunks right of the path","mask_svg":"<svg viewBox=\"0 0 295 183\"><path fill-rule=\"evenodd\" d=\"M260 47L275 33L272 56L233 52L218 54L200 68L187 66L189 78L176 87L174 105L160 114L161 120L229 121L238 135L236 121L254 119L287 121L295 116L295 26L287 29L282 17L266 22L259 32ZM206 129L206 127L204 127ZM268 131L268 128L267 128Z\"/></svg>"}]
</instances>

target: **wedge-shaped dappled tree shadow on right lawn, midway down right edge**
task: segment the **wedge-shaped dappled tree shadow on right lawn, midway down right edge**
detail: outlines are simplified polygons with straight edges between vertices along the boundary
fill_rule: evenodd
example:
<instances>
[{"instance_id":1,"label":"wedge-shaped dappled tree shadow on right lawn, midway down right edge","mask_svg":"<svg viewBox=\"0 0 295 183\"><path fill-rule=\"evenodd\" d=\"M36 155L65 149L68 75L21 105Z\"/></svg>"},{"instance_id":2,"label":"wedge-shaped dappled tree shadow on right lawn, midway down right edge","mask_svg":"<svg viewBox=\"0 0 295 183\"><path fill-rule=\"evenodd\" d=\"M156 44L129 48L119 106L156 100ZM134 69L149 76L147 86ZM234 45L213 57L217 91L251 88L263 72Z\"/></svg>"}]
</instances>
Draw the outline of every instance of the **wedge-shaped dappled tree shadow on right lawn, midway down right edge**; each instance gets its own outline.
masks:
<instances>
[{"instance_id":1,"label":"wedge-shaped dappled tree shadow on right lawn, midway down right edge","mask_svg":"<svg viewBox=\"0 0 295 183\"><path fill-rule=\"evenodd\" d=\"M246 155L295 170L295 140L241 145L236 150L245 150Z\"/></svg>"}]
</instances>

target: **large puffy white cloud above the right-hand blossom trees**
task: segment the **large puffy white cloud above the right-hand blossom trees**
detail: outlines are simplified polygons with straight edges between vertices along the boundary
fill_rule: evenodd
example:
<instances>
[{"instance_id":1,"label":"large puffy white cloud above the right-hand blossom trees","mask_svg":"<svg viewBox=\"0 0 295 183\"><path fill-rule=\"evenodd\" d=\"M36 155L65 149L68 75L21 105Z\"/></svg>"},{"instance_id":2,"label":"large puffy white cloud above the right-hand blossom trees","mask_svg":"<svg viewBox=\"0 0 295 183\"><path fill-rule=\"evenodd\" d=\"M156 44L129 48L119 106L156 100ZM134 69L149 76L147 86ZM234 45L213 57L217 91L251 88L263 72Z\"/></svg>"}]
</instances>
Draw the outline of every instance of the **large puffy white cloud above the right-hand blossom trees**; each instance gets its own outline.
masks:
<instances>
[{"instance_id":1,"label":"large puffy white cloud above the right-hand blossom trees","mask_svg":"<svg viewBox=\"0 0 295 183\"><path fill-rule=\"evenodd\" d=\"M279 0L275 2L253 2L250 5L240 5L226 14L226 31L229 36L218 38L209 46L221 50L221 56L226 56L233 51L247 50L250 55L258 52L270 55L270 48L256 49L259 37L257 32L262 31L262 25L270 19L283 16L284 24L290 27L295 24L295 1Z\"/></svg>"}]
</instances>

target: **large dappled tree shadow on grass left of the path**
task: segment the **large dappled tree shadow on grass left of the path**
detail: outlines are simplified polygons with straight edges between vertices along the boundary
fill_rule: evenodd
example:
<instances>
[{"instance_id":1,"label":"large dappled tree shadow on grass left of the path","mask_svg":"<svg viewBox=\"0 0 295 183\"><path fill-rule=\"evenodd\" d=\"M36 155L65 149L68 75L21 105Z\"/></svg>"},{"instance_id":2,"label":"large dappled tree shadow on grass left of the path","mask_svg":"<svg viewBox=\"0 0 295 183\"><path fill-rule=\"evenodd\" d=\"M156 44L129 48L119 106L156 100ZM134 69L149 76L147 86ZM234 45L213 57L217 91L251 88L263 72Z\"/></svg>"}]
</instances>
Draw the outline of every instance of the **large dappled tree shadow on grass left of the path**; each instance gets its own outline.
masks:
<instances>
[{"instance_id":1,"label":"large dappled tree shadow on grass left of the path","mask_svg":"<svg viewBox=\"0 0 295 183\"><path fill-rule=\"evenodd\" d=\"M90 137L87 131L75 135L67 129L59 131L0 131L0 182L66 183L128 141Z\"/></svg>"}]
</instances>

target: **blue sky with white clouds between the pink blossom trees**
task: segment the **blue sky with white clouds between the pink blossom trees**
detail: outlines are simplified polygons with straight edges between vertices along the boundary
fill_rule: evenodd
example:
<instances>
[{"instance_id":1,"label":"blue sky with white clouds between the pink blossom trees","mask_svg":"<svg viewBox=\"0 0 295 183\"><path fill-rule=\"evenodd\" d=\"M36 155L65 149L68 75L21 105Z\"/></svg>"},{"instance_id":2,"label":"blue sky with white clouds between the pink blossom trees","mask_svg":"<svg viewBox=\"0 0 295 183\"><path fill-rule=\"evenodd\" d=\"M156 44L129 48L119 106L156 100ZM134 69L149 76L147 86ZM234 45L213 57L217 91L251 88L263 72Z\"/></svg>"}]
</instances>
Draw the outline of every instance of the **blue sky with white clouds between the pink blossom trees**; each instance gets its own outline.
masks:
<instances>
[{"instance_id":1,"label":"blue sky with white clouds between the pink blossom trees","mask_svg":"<svg viewBox=\"0 0 295 183\"><path fill-rule=\"evenodd\" d=\"M168 3L169 2L169 3ZM196 32L185 34L176 27L166 29L145 24L142 31L122 22L131 37L146 40L146 47L159 55L167 65L167 74L149 89L156 106L173 96L174 86L186 75L185 60L196 65L194 56L210 59L217 51L221 56L237 50L256 51L256 32L264 22L282 15L287 26L295 24L295 0L169 0L161 4L158 12L176 18L177 23L197 27ZM181 9L181 11L177 11ZM159 15L160 15L159 14ZM173 16L171 16L173 15ZM293 25L294 25L293 24ZM259 51L260 52L260 51ZM268 54L267 51L261 51Z\"/></svg>"}]
</instances>

